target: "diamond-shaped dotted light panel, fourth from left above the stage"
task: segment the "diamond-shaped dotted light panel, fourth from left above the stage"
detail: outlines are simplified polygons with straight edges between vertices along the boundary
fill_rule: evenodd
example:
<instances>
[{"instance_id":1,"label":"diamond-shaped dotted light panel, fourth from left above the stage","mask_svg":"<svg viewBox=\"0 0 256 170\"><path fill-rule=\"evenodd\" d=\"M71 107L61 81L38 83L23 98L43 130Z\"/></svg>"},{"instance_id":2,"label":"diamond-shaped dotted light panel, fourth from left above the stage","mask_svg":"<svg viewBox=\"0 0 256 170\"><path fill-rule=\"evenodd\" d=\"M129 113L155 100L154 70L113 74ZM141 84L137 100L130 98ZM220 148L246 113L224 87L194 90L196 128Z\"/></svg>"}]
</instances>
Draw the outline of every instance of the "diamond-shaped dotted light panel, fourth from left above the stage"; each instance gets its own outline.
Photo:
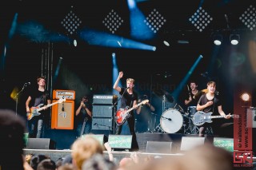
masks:
<instances>
[{"instance_id":1,"label":"diamond-shaped dotted light panel, fourth from left above the stage","mask_svg":"<svg viewBox=\"0 0 256 170\"><path fill-rule=\"evenodd\" d=\"M213 21L213 18L210 17L210 14L203 10L202 7L189 18L189 21L196 27L197 30L202 32Z\"/></svg>"}]
</instances>

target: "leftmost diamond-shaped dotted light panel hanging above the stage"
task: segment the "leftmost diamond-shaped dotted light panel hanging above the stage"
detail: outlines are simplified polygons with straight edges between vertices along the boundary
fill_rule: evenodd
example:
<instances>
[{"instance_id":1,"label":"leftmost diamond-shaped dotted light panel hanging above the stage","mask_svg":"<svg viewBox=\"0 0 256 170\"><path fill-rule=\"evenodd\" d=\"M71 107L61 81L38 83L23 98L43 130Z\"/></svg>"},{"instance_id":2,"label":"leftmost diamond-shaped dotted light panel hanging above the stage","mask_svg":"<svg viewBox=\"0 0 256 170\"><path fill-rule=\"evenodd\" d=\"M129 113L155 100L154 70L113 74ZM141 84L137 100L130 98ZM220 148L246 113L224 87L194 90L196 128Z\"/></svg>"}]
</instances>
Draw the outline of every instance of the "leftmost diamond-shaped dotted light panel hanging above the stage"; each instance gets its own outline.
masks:
<instances>
[{"instance_id":1,"label":"leftmost diamond-shaped dotted light panel hanging above the stage","mask_svg":"<svg viewBox=\"0 0 256 170\"><path fill-rule=\"evenodd\" d=\"M62 26L69 32L69 34L74 34L78 30L78 26L81 25L82 21L72 10L70 13L66 14L65 18L62 20Z\"/></svg>"}]
</instances>

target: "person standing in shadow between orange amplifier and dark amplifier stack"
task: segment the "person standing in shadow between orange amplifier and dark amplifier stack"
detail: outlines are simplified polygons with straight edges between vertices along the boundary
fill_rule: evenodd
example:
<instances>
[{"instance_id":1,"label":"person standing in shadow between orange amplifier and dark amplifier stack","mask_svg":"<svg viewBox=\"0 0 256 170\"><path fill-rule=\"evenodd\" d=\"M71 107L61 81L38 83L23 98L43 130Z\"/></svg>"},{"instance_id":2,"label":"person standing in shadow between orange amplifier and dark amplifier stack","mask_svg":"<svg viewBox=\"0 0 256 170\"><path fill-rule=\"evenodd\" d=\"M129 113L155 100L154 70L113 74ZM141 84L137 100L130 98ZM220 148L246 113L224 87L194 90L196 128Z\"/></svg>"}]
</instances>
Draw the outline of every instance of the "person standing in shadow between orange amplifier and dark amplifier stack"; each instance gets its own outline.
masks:
<instances>
[{"instance_id":1,"label":"person standing in shadow between orange amplifier and dark amplifier stack","mask_svg":"<svg viewBox=\"0 0 256 170\"><path fill-rule=\"evenodd\" d=\"M87 96L82 97L78 109L75 111L77 137L91 132L92 114L92 105L89 98Z\"/></svg>"}]
</instances>

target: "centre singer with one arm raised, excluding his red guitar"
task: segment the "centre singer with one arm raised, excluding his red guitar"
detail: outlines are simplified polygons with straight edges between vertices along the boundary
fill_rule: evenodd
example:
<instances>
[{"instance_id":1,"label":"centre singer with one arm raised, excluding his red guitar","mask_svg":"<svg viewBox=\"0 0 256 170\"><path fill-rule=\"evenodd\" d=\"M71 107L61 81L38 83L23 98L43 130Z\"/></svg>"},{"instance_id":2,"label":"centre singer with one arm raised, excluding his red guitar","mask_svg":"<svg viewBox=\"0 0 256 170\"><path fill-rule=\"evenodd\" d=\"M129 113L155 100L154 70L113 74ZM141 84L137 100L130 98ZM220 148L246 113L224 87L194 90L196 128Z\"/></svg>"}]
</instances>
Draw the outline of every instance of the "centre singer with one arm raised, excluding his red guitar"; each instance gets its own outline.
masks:
<instances>
[{"instance_id":1,"label":"centre singer with one arm raised, excluding his red guitar","mask_svg":"<svg viewBox=\"0 0 256 170\"><path fill-rule=\"evenodd\" d=\"M138 101L138 94L134 92L134 79L127 78L126 79L126 88L121 88L118 86L118 82L123 77L123 72L119 72L118 78L114 83L113 89L117 90L119 94L121 95L121 109L127 109L127 107L138 109L137 101ZM135 119L134 119L134 110L130 111L130 117L127 118L127 123L130 129L130 134L133 136L132 138L132 144L131 144L131 150L136 151L138 150L138 142L136 139L136 133L135 133ZM116 126L116 135L120 135L122 132L122 125Z\"/></svg>"}]
</instances>

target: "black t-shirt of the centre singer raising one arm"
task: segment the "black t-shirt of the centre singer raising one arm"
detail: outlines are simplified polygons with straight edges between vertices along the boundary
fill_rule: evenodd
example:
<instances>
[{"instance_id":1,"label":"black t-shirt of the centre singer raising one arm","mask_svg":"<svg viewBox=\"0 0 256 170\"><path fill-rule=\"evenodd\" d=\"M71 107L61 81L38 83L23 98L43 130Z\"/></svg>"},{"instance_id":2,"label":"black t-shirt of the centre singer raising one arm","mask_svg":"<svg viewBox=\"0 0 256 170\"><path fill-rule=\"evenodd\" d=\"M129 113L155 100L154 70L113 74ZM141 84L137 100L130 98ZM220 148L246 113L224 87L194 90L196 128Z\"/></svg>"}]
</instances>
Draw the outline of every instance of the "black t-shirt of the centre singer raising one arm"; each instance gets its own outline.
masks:
<instances>
[{"instance_id":1,"label":"black t-shirt of the centre singer raising one arm","mask_svg":"<svg viewBox=\"0 0 256 170\"><path fill-rule=\"evenodd\" d=\"M122 96L120 107L122 109L126 109L126 106L131 108L133 106L134 101L138 101L138 94L136 92L129 94L127 90L125 91L124 88L121 88L121 92L119 94Z\"/></svg>"}]
</instances>

